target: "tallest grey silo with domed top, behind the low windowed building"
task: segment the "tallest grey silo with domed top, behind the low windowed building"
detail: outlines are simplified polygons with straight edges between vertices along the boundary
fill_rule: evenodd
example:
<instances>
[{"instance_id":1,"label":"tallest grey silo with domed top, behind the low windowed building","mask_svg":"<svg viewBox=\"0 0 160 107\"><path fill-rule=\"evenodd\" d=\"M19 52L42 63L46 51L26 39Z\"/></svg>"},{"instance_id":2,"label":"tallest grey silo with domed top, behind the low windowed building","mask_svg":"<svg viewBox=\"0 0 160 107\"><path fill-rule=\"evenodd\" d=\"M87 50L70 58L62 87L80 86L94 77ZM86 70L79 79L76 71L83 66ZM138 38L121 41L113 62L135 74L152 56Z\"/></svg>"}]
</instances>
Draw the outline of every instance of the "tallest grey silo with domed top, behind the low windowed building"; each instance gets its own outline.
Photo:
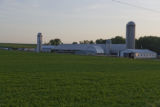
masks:
<instances>
[{"instance_id":1,"label":"tallest grey silo with domed top, behind the low windowed building","mask_svg":"<svg viewBox=\"0 0 160 107\"><path fill-rule=\"evenodd\" d=\"M135 49L135 29L136 24L134 22L128 22L126 30L126 48Z\"/></svg>"}]
</instances>

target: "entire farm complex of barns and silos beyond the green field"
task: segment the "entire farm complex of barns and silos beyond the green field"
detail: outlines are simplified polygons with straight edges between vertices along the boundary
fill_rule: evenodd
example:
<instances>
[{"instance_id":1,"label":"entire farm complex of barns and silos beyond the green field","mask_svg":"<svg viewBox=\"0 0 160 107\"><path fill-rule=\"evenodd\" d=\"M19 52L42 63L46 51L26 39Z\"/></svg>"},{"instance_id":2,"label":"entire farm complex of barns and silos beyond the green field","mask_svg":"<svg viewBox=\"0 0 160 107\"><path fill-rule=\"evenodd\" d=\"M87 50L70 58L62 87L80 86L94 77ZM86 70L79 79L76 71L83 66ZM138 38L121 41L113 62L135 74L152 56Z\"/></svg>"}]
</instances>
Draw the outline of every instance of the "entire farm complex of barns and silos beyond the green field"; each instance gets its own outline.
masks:
<instances>
[{"instance_id":1,"label":"entire farm complex of barns and silos beyond the green field","mask_svg":"<svg viewBox=\"0 0 160 107\"><path fill-rule=\"evenodd\" d=\"M116 55L129 58L156 58L157 54L150 50L135 49L136 24L126 25L126 43L112 44L106 40L105 44L61 44L58 46L42 45L42 34L37 35L37 52L71 53L83 55ZM42 45L42 46L41 46Z\"/></svg>"}]
</instances>

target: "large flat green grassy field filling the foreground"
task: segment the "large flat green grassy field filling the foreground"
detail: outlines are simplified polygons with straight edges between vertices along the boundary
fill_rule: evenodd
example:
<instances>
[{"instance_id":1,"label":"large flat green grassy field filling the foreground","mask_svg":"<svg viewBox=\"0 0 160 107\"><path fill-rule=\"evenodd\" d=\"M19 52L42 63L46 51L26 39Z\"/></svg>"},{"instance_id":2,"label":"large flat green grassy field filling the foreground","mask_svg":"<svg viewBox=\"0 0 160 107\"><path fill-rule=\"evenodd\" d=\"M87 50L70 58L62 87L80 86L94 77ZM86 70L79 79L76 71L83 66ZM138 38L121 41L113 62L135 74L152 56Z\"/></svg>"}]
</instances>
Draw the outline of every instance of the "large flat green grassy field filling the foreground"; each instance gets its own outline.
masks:
<instances>
[{"instance_id":1,"label":"large flat green grassy field filling the foreground","mask_svg":"<svg viewBox=\"0 0 160 107\"><path fill-rule=\"evenodd\" d=\"M0 51L0 106L159 107L160 61Z\"/></svg>"}]
</instances>

